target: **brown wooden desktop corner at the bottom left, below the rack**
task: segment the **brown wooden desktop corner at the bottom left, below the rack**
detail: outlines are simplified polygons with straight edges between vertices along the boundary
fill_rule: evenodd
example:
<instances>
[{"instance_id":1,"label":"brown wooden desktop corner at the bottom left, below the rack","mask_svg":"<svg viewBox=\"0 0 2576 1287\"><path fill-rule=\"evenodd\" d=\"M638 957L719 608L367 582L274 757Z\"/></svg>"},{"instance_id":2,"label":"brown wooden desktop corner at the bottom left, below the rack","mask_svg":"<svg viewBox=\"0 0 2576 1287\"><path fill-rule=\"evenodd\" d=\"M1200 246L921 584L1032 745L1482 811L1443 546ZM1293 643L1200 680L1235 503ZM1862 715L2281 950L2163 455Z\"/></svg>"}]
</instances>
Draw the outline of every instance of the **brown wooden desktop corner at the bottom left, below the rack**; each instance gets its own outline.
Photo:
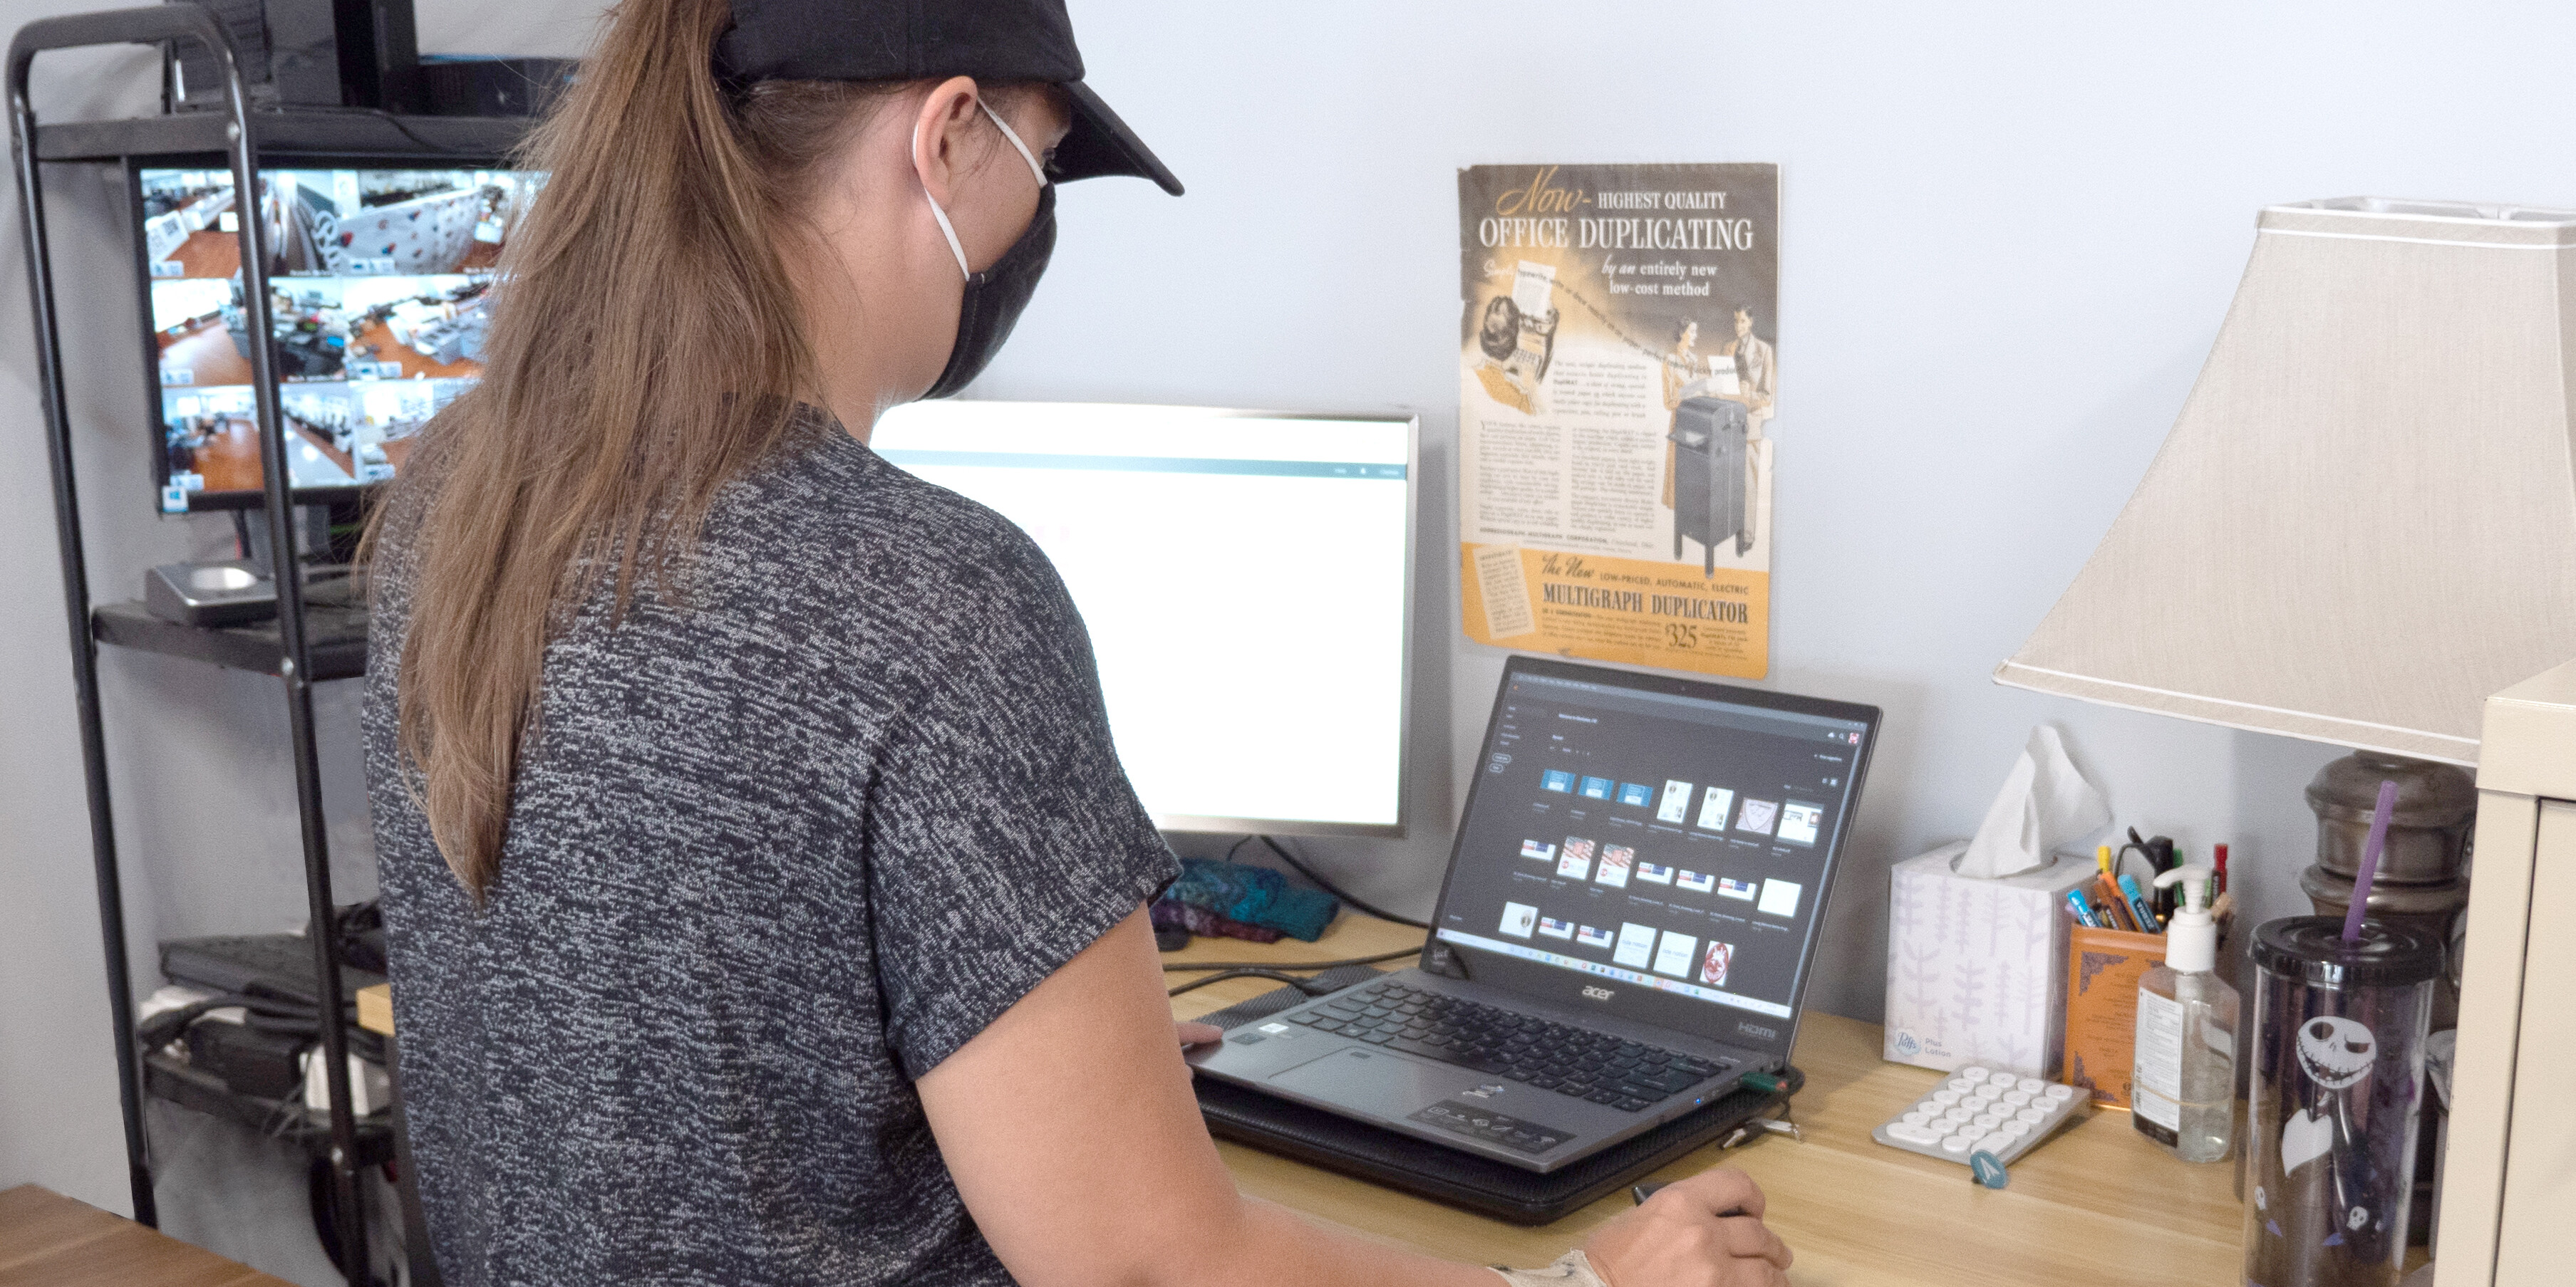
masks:
<instances>
[{"instance_id":1,"label":"brown wooden desktop corner at the bottom left, below the rack","mask_svg":"<svg viewBox=\"0 0 2576 1287\"><path fill-rule=\"evenodd\" d=\"M291 1287L88 1202L0 1192L0 1287Z\"/></svg>"}]
</instances>

